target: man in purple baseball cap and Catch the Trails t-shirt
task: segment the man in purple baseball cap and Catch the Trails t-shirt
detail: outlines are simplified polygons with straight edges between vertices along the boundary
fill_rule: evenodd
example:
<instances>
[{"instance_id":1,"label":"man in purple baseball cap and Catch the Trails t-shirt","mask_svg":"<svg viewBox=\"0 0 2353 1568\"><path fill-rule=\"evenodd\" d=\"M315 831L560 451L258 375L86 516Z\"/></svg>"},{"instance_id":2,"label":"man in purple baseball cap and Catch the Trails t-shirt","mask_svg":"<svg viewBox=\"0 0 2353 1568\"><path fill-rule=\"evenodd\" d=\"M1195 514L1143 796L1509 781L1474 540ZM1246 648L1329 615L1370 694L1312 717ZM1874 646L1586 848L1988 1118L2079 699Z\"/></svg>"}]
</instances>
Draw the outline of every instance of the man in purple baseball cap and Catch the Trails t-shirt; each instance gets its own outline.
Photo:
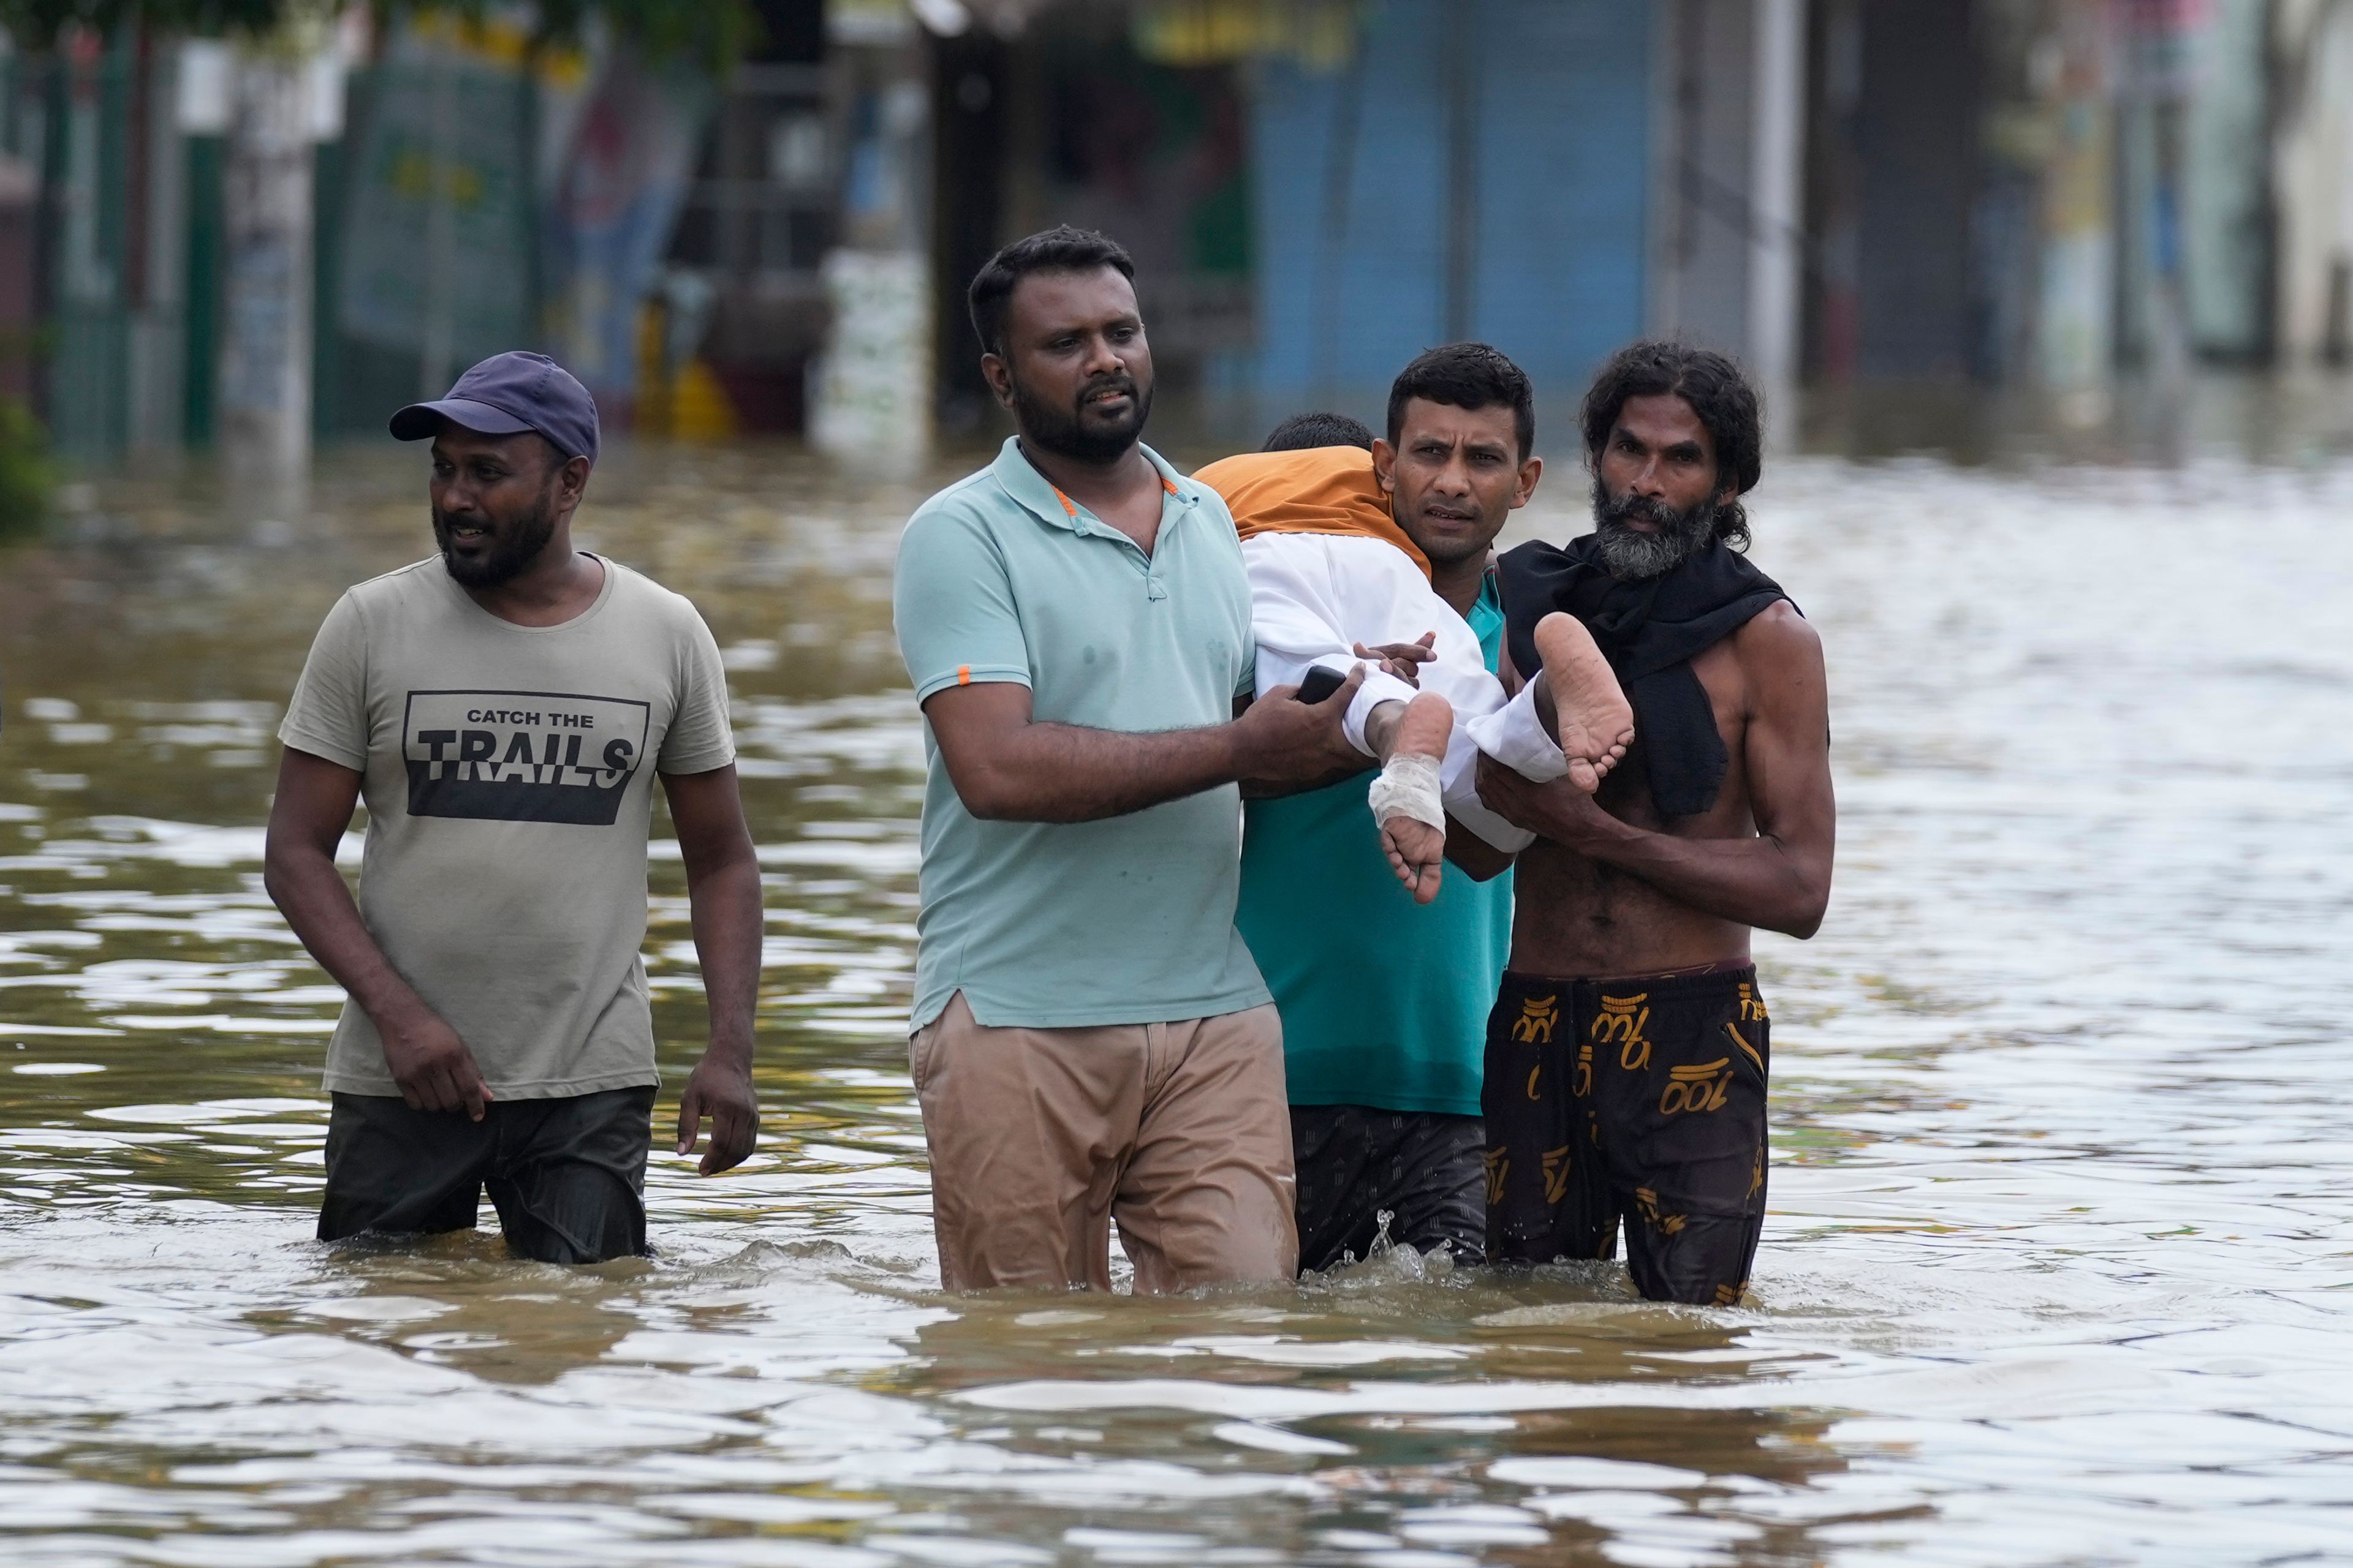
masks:
<instances>
[{"instance_id":1,"label":"man in purple baseball cap and Catch the Trails t-shirt","mask_svg":"<svg viewBox=\"0 0 2353 1568\"><path fill-rule=\"evenodd\" d=\"M482 360L391 428L433 442L440 555L320 625L278 729L266 858L271 898L348 992L318 1234L473 1229L489 1187L515 1253L642 1253L656 773L711 1004L678 1152L708 1114L715 1175L760 1126L760 865L718 644L685 597L572 548L598 418L546 355ZM334 851L362 799L353 900Z\"/></svg>"}]
</instances>

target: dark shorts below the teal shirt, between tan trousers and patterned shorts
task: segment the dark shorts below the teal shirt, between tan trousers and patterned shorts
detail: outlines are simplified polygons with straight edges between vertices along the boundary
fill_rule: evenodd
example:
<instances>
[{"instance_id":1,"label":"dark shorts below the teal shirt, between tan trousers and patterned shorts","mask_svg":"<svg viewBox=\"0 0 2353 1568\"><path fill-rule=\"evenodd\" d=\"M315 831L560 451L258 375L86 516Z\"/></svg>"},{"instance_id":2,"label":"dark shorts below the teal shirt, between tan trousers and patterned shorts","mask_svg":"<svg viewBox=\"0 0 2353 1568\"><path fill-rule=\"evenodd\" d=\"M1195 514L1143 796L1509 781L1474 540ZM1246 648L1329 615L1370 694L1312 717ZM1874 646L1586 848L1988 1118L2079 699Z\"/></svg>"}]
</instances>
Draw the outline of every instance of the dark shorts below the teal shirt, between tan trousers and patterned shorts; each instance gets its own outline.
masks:
<instances>
[{"instance_id":1,"label":"dark shorts below the teal shirt, between tan trousers and patterned shorts","mask_svg":"<svg viewBox=\"0 0 2353 1568\"><path fill-rule=\"evenodd\" d=\"M1485 1143L1478 1117L1294 1105L1299 1267L1329 1269L1348 1253L1369 1258L1384 1211L1398 1246L1412 1244L1424 1255L1442 1246L1464 1267L1485 1262Z\"/></svg>"}]
</instances>

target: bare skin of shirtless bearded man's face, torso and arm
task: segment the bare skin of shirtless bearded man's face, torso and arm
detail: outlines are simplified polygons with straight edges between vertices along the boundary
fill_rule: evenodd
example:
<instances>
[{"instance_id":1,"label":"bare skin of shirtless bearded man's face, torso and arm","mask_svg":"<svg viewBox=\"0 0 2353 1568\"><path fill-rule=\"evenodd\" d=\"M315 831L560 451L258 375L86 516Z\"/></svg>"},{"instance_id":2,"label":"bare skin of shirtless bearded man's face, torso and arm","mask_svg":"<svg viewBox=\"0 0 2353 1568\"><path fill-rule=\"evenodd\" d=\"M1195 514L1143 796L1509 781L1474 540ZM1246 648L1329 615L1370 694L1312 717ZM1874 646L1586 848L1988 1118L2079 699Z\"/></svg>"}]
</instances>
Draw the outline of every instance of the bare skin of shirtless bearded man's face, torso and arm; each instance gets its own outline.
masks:
<instances>
[{"instance_id":1,"label":"bare skin of shirtless bearded man's face, torso and arm","mask_svg":"<svg viewBox=\"0 0 2353 1568\"><path fill-rule=\"evenodd\" d=\"M1673 395L1628 397L1595 473L1612 498L1633 491L1675 510L1734 496L1706 425ZM1480 759L1480 797L1539 835L1518 860L1515 971L1607 978L1746 961L1753 926L1798 938L1821 926L1838 818L1821 639L1781 602L1692 670L1729 757L1701 816L1661 820L1633 759L1598 795Z\"/></svg>"}]
</instances>

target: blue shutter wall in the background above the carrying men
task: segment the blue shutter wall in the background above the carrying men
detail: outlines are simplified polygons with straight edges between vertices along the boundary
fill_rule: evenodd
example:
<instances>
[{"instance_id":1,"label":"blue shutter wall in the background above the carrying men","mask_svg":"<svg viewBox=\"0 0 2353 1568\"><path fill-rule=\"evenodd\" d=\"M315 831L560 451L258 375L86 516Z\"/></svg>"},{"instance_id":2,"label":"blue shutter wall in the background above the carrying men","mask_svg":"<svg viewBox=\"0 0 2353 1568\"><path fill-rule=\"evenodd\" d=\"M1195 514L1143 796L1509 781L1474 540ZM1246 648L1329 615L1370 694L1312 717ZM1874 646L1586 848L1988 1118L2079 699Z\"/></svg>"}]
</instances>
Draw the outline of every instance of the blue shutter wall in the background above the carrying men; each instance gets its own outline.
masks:
<instances>
[{"instance_id":1,"label":"blue shutter wall in the background above the carrying men","mask_svg":"<svg viewBox=\"0 0 2353 1568\"><path fill-rule=\"evenodd\" d=\"M1259 346L1224 383L1261 414L1315 400L1377 414L1445 339L1445 35L1471 21L1480 110L1473 336L1537 381L1565 430L1593 367L1642 329L1652 16L1642 0L1381 0L1341 244L1327 237L1346 82L1292 61L1252 92ZM1546 418L1551 411L1551 418Z\"/></svg>"}]
</instances>

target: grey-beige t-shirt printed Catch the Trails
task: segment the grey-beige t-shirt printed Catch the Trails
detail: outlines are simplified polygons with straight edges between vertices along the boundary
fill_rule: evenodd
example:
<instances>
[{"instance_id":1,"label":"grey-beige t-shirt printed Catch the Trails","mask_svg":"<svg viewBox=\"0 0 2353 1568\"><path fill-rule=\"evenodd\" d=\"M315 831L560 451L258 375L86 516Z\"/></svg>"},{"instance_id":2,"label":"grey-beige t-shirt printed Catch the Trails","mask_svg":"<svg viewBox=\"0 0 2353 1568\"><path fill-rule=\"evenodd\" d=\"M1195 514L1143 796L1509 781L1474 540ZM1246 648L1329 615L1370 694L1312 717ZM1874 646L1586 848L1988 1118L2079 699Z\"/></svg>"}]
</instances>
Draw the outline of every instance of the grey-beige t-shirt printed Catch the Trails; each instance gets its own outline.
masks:
<instances>
[{"instance_id":1,"label":"grey-beige t-shirt printed Catch the Trails","mask_svg":"<svg viewBox=\"0 0 2353 1568\"><path fill-rule=\"evenodd\" d=\"M718 644L605 564L595 604L515 625L440 557L346 592L278 738L360 778L360 919L504 1100L659 1084L645 964L654 773L734 762ZM355 1001L327 1088L395 1095Z\"/></svg>"}]
</instances>

